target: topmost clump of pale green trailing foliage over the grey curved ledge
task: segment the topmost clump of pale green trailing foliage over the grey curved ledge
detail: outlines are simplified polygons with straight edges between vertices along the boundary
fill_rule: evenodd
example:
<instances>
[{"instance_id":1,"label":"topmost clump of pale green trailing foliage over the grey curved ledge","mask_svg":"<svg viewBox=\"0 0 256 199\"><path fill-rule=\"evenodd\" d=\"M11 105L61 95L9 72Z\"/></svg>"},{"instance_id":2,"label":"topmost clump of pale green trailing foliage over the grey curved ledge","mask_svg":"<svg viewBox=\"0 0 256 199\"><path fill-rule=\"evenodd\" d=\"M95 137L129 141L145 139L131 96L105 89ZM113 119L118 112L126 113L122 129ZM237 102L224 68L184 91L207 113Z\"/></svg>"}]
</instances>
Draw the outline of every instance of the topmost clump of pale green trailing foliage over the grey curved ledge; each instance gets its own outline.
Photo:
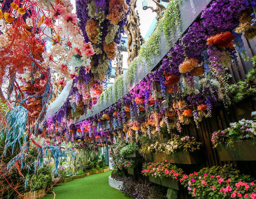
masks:
<instances>
[{"instance_id":1,"label":"topmost clump of pale green trailing foliage over the grey curved ledge","mask_svg":"<svg viewBox=\"0 0 256 199\"><path fill-rule=\"evenodd\" d=\"M174 33L178 30L181 34L181 18L179 4L182 0L172 0L168 2L167 8L164 12L163 17L158 22L160 32L164 33L165 39L170 43L171 39L174 38Z\"/></svg>"}]
</instances>

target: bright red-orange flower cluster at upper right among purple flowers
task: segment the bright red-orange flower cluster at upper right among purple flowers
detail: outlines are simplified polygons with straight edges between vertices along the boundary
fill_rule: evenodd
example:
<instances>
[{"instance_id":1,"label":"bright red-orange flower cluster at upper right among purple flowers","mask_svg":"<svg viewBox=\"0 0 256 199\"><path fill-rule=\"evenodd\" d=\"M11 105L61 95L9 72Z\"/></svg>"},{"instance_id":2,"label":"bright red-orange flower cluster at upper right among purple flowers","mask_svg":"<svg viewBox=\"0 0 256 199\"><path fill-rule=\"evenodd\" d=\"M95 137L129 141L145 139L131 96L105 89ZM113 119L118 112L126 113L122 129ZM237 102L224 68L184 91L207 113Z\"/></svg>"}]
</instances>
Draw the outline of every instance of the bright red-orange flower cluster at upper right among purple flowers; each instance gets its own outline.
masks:
<instances>
[{"instance_id":1,"label":"bright red-orange flower cluster at upper right among purple flowers","mask_svg":"<svg viewBox=\"0 0 256 199\"><path fill-rule=\"evenodd\" d=\"M220 48L229 47L230 49L234 49L234 38L235 36L231 32L227 31L224 33L211 36L209 39L207 39L207 45L216 45Z\"/></svg>"}]
</instances>

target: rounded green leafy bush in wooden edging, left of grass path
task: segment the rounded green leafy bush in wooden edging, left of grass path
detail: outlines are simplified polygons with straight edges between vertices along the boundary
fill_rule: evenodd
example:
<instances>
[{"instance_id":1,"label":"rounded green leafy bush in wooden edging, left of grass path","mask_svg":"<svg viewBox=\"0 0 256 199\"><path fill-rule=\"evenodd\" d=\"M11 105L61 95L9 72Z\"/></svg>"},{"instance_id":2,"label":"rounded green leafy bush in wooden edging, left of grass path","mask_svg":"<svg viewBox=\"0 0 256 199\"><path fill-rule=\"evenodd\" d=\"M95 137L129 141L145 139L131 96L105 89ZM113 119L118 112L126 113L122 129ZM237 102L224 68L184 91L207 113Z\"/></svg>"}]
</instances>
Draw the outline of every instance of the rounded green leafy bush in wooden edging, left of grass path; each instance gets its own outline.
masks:
<instances>
[{"instance_id":1,"label":"rounded green leafy bush in wooden edging, left of grass path","mask_svg":"<svg viewBox=\"0 0 256 199\"><path fill-rule=\"evenodd\" d=\"M33 178L32 178L33 177ZM47 189L52 184L52 175L47 167L38 168L37 173L27 175L28 186L26 188L27 191L30 191L30 182L32 179L32 191L36 191L39 189Z\"/></svg>"}]
</instances>

